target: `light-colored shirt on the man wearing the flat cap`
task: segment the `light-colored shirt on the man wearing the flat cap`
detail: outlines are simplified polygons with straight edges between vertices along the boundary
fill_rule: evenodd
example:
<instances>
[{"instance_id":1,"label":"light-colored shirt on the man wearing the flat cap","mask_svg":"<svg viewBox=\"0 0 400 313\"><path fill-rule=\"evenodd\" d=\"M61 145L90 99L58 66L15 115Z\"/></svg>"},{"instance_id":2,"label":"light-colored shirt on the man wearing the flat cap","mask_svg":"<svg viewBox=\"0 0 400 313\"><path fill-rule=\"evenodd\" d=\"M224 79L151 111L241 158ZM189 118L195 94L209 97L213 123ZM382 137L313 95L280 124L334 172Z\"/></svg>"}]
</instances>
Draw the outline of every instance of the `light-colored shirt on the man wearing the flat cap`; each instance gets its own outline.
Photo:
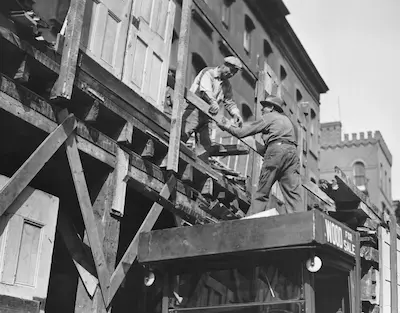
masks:
<instances>
[{"instance_id":1,"label":"light-colored shirt on the man wearing the flat cap","mask_svg":"<svg viewBox=\"0 0 400 313\"><path fill-rule=\"evenodd\" d=\"M218 67L203 69L194 79L190 91L197 95L203 91L211 99L211 102L215 101L218 105L223 104L231 115L240 115L233 100L232 85L228 79L221 79Z\"/></svg>"}]
</instances>

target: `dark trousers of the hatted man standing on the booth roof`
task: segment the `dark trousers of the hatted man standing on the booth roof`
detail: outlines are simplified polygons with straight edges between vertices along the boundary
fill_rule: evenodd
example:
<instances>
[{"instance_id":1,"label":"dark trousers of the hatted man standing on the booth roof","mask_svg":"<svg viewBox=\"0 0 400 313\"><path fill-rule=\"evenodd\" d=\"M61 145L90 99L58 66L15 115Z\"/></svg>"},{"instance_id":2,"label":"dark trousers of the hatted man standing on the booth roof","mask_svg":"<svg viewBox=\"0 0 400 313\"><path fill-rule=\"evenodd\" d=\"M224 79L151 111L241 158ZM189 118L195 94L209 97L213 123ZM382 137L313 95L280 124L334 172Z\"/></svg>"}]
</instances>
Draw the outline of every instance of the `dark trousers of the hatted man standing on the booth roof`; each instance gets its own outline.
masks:
<instances>
[{"instance_id":1,"label":"dark trousers of the hatted man standing on the booth roof","mask_svg":"<svg viewBox=\"0 0 400 313\"><path fill-rule=\"evenodd\" d=\"M300 159L297 148L286 143L272 143L265 152L258 189L247 216L268 209L272 185L278 181L285 200L286 213L302 211L300 194Z\"/></svg>"}]
</instances>

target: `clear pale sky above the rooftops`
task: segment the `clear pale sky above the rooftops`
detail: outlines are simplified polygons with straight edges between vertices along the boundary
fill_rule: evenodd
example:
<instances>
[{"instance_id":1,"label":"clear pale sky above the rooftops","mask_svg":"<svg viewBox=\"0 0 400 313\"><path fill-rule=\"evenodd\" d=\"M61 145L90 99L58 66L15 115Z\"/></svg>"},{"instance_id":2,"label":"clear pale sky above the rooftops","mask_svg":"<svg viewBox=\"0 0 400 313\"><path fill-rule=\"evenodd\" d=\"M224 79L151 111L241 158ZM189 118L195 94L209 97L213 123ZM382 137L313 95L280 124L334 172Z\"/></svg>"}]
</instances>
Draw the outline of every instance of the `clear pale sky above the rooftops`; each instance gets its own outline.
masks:
<instances>
[{"instance_id":1,"label":"clear pale sky above the rooftops","mask_svg":"<svg viewBox=\"0 0 400 313\"><path fill-rule=\"evenodd\" d=\"M400 199L400 0L284 0L287 19L329 87L321 122L379 130ZM351 135L350 135L351 136Z\"/></svg>"}]
</instances>

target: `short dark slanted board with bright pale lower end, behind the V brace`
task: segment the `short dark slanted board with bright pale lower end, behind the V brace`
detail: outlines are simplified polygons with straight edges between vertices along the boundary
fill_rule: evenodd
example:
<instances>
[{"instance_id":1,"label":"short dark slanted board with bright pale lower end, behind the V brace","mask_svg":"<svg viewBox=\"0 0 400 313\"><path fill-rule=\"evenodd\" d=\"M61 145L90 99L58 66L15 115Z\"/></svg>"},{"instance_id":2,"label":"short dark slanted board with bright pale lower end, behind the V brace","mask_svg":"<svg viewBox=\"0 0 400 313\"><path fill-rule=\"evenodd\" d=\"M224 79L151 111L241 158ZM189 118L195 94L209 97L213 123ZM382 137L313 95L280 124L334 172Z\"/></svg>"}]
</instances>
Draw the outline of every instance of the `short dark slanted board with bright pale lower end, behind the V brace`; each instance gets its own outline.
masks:
<instances>
[{"instance_id":1,"label":"short dark slanted board with bright pale lower end, behind the V brace","mask_svg":"<svg viewBox=\"0 0 400 313\"><path fill-rule=\"evenodd\" d=\"M97 277L94 276L96 270L93 268L90 260L88 260L82 239L79 237L74 225L69 220L68 216L63 214L61 211L59 212L57 230L60 232L61 237L71 254L72 261L75 264L86 291L91 297L93 297L99 283Z\"/></svg>"}]
</instances>

